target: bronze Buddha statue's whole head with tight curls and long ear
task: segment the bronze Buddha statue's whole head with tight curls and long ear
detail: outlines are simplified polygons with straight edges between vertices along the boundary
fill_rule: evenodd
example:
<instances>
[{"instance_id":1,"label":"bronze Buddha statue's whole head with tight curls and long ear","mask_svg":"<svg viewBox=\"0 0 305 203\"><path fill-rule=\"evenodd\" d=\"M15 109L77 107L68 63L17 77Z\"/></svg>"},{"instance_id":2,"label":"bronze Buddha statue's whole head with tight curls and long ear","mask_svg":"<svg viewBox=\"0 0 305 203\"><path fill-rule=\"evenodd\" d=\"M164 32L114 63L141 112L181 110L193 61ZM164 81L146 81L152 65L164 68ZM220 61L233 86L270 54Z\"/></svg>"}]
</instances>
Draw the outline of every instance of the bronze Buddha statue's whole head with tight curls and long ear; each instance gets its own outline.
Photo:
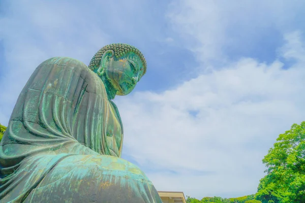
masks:
<instances>
[{"instance_id":1,"label":"bronze Buddha statue's whole head with tight curls and long ear","mask_svg":"<svg viewBox=\"0 0 305 203\"><path fill-rule=\"evenodd\" d=\"M115 95L127 95L146 72L142 53L128 44L110 44L101 48L92 58L89 69L99 75L106 88ZM113 95L114 96L114 95Z\"/></svg>"}]
</instances>

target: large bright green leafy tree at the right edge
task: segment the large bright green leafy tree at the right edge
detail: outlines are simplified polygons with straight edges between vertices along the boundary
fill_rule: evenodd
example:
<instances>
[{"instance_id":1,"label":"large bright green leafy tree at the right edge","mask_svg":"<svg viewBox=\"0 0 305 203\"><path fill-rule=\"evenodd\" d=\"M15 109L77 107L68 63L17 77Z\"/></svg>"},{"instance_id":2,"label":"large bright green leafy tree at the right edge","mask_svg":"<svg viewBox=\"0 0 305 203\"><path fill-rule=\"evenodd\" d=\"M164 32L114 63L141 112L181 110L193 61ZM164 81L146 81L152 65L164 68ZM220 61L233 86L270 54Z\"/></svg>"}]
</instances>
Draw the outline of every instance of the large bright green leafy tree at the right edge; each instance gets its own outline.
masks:
<instances>
[{"instance_id":1,"label":"large bright green leafy tree at the right edge","mask_svg":"<svg viewBox=\"0 0 305 203\"><path fill-rule=\"evenodd\" d=\"M280 134L264 157L267 175L256 199L263 203L305 202L305 122Z\"/></svg>"}]
</instances>

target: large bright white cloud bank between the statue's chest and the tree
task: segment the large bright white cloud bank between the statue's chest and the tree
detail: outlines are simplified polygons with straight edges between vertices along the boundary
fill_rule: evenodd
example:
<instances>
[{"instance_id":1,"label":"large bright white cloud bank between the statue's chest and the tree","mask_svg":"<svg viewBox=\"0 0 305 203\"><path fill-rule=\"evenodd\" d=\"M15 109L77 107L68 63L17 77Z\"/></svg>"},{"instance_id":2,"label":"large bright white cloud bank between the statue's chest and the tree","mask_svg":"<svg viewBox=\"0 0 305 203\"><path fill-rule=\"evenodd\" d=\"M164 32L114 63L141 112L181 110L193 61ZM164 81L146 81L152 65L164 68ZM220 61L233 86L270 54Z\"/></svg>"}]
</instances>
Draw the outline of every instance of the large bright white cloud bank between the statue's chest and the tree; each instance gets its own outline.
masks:
<instances>
[{"instance_id":1,"label":"large bright white cloud bank between the statue's chest and the tree","mask_svg":"<svg viewBox=\"0 0 305 203\"><path fill-rule=\"evenodd\" d=\"M256 192L267 150L305 115L304 44L299 32L285 40L282 56L295 59L288 70L278 59L243 58L160 94L117 99L126 153L158 190L197 198Z\"/></svg>"}]
</instances>

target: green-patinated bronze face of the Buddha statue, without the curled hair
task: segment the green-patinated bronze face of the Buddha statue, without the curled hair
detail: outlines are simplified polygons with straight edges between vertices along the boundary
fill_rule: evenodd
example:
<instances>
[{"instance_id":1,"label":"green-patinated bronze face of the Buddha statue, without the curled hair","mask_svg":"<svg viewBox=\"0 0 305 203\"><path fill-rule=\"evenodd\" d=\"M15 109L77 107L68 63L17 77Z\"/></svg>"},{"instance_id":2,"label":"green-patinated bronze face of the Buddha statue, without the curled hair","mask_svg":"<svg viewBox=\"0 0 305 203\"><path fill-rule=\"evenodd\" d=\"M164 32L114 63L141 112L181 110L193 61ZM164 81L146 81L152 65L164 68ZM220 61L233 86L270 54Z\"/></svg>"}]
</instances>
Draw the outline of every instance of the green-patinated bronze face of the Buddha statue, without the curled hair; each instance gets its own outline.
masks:
<instances>
[{"instance_id":1,"label":"green-patinated bronze face of the Buddha statue, without the curled hair","mask_svg":"<svg viewBox=\"0 0 305 203\"><path fill-rule=\"evenodd\" d=\"M128 53L120 59L107 59L105 76L116 90L116 95L127 95L136 86L143 75L144 67L140 57Z\"/></svg>"}]
</instances>

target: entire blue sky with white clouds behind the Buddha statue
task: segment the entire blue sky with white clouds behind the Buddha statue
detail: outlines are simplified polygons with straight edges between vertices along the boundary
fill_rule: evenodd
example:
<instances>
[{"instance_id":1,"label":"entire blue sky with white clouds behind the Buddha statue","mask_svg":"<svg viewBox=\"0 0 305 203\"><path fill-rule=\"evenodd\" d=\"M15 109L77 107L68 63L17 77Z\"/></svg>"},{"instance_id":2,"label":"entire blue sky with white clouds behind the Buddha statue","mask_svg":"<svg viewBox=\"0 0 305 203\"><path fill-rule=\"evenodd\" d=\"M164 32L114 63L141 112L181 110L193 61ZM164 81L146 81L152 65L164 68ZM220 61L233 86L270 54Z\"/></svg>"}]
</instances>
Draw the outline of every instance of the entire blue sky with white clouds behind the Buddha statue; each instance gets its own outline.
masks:
<instances>
[{"instance_id":1,"label":"entire blue sky with white clouds behind the Buddha statue","mask_svg":"<svg viewBox=\"0 0 305 203\"><path fill-rule=\"evenodd\" d=\"M53 56L88 64L110 43L141 50L147 73L115 98L123 157L157 190L255 193L261 160L304 120L304 1L1 1L0 122Z\"/></svg>"}]
</instances>

